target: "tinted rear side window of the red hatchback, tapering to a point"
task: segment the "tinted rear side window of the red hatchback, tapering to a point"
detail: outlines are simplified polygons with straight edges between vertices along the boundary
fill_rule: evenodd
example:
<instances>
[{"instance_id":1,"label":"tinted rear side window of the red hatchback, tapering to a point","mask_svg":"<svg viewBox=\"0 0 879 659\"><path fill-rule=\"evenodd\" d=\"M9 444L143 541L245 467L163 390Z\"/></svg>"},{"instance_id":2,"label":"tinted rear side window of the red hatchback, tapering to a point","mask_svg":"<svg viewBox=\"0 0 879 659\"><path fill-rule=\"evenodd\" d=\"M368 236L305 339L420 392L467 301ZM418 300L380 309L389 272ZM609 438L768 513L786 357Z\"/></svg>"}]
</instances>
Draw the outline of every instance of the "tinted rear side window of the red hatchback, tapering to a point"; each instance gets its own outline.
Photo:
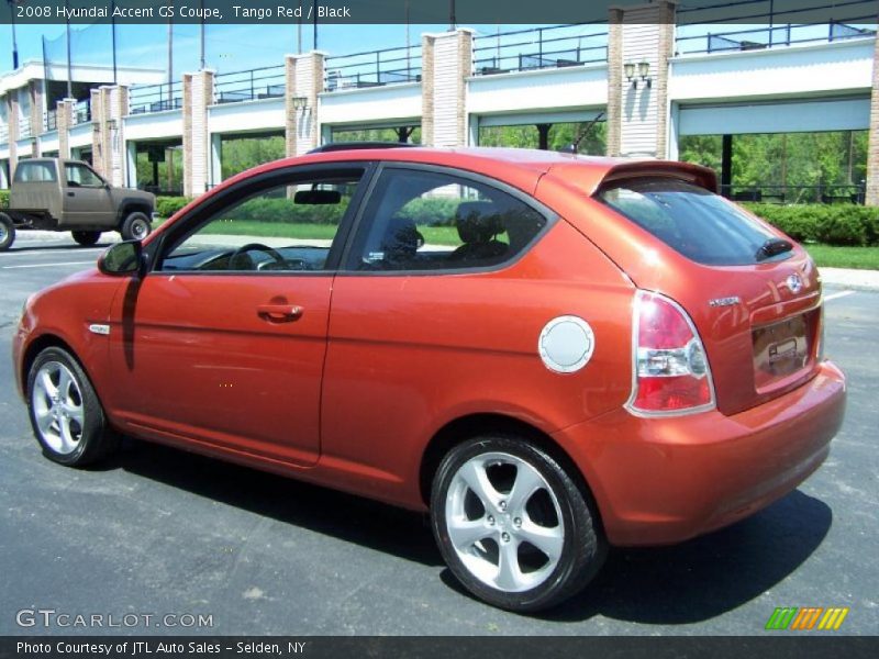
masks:
<instances>
[{"instance_id":1,"label":"tinted rear side window of the red hatchback, tapering to a point","mask_svg":"<svg viewBox=\"0 0 879 659\"><path fill-rule=\"evenodd\" d=\"M448 270L515 258L546 217L498 188L435 171L387 168L352 249L360 271Z\"/></svg>"}]
</instances>

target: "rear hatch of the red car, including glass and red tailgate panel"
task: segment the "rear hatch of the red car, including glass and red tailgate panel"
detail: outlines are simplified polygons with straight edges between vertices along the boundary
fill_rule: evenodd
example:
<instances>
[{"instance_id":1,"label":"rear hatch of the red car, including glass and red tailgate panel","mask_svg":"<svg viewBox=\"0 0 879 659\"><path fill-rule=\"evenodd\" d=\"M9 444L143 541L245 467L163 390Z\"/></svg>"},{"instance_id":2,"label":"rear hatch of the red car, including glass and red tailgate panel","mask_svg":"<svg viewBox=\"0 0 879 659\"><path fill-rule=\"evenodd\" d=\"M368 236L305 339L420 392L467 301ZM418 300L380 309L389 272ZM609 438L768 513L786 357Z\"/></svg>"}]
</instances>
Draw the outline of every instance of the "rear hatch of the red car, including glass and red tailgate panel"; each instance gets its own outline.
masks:
<instances>
[{"instance_id":1,"label":"rear hatch of the red car, including glass and red tailgate panel","mask_svg":"<svg viewBox=\"0 0 879 659\"><path fill-rule=\"evenodd\" d=\"M820 359L821 288L808 254L682 178L610 180L596 199L621 215L621 223L646 231L685 257L639 267L633 280L669 295L690 314L722 413L761 404L813 376Z\"/></svg>"}]
</instances>

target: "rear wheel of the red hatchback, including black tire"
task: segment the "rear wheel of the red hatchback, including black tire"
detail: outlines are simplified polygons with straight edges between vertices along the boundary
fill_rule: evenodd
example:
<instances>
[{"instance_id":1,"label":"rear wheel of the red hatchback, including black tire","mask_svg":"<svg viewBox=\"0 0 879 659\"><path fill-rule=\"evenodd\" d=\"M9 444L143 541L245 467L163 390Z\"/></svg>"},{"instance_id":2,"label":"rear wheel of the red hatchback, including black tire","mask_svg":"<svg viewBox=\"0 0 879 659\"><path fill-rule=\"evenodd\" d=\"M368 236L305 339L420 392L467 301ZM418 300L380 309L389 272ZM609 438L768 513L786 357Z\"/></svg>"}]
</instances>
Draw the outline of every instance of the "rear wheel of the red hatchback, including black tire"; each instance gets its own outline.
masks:
<instances>
[{"instance_id":1,"label":"rear wheel of the red hatchback, including black tire","mask_svg":"<svg viewBox=\"0 0 879 659\"><path fill-rule=\"evenodd\" d=\"M472 478L479 469L492 485L488 494L477 494L465 482L465 474ZM516 494L516 482L523 492L533 492ZM485 502L494 495L500 499ZM457 530L450 530L450 518L461 523ZM443 458L433 480L431 523L458 581L508 611L541 611L571 597L598 573L607 555L589 493L547 453L512 436L476 437ZM502 556L510 557L505 565L514 559L514 570L501 567Z\"/></svg>"}]
</instances>

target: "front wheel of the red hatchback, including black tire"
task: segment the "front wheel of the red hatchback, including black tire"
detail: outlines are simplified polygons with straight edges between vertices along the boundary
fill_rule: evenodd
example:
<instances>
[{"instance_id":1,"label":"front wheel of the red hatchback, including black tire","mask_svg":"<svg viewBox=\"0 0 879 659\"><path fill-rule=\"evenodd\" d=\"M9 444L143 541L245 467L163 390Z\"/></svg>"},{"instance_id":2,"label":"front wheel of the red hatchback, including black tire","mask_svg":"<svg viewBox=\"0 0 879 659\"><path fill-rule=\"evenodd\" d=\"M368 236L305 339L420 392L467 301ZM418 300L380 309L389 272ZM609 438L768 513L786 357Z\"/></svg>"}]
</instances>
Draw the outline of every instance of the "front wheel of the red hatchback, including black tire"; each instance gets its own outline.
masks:
<instances>
[{"instance_id":1,"label":"front wheel of the red hatchback, including black tire","mask_svg":"<svg viewBox=\"0 0 879 659\"><path fill-rule=\"evenodd\" d=\"M55 462L82 467L119 446L94 388L62 348L44 349L31 365L27 412L43 455Z\"/></svg>"}]
</instances>

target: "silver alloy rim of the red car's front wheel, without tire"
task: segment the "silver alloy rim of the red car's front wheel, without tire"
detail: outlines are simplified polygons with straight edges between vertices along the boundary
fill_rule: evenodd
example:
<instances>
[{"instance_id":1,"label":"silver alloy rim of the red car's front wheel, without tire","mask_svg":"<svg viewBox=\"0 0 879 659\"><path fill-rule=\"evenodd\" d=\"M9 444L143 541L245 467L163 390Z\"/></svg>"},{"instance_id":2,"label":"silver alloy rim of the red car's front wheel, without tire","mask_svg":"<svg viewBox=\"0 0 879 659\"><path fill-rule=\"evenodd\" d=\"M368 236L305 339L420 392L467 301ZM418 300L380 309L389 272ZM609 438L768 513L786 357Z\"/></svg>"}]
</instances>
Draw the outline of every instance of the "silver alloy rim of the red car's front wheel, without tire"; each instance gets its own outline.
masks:
<instances>
[{"instance_id":1,"label":"silver alloy rim of the red car's front wheel, without tire","mask_svg":"<svg viewBox=\"0 0 879 659\"><path fill-rule=\"evenodd\" d=\"M86 412L74 373L59 361L44 364L31 392L41 439L57 454L74 453L82 439Z\"/></svg>"}]
</instances>

